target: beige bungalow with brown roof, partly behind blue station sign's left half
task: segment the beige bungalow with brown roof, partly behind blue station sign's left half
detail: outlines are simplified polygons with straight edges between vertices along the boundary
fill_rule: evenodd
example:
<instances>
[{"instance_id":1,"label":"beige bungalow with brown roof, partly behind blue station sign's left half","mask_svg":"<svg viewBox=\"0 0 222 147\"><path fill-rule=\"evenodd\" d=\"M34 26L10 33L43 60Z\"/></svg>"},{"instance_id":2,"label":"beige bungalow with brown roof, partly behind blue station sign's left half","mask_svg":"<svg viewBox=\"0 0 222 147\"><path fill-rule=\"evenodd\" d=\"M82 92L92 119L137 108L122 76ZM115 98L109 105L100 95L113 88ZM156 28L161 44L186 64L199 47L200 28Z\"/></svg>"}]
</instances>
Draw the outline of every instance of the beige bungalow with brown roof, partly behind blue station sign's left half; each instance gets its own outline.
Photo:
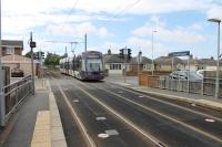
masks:
<instances>
[{"instance_id":1,"label":"beige bungalow with brown roof, partly behind blue station sign's left half","mask_svg":"<svg viewBox=\"0 0 222 147\"><path fill-rule=\"evenodd\" d=\"M160 56L154 60L157 71L181 71L185 70L185 63L179 57Z\"/></svg>"}]
</instances>

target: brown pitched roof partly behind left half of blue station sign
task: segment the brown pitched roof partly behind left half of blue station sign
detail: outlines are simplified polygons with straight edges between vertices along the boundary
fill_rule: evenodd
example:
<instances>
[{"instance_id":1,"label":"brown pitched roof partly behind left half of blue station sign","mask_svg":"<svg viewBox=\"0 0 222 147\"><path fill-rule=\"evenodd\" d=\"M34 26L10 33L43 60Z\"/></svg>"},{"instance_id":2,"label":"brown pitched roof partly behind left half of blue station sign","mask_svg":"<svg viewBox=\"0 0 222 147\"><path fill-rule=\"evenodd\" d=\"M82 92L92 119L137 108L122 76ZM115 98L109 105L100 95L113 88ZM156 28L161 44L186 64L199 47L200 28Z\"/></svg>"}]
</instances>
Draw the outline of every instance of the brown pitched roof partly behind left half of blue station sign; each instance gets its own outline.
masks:
<instances>
[{"instance_id":1,"label":"brown pitched roof partly behind left half of blue station sign","mask_svg":"<svg viewBox=\"0 0 222 147\"><path fill-rule=\"evenodd\" d=\"M160 56L154 60L157 64L161 65L171 65L172 64L172 57L171 56ZM179 57L173 57L174 64L184 64L184 62Z\"/></svg>"}]
</instances>

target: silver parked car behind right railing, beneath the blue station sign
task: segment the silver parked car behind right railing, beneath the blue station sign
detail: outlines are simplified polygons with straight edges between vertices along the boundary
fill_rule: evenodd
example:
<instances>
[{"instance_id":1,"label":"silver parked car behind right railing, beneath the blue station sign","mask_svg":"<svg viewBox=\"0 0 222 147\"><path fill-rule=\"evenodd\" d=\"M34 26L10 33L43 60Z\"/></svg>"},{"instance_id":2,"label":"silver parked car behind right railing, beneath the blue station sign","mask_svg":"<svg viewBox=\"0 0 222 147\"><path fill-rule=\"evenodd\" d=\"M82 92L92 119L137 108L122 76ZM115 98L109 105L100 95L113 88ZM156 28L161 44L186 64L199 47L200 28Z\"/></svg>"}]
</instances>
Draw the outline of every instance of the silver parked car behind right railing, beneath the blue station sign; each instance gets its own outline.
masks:
<instances>
[{"instance_id":1,"label":"silver parked car behind right railing, beneath the blue station sign","mask_svg":"<svg viewBox=\"0 0 222 147\"><path fill-rule=\"evenodd\" d=\"M174 80L188 80L189 77L190 81L201 81L203 78L195 71L174 71L169 76Z\"/></svg>"}]
</instances>

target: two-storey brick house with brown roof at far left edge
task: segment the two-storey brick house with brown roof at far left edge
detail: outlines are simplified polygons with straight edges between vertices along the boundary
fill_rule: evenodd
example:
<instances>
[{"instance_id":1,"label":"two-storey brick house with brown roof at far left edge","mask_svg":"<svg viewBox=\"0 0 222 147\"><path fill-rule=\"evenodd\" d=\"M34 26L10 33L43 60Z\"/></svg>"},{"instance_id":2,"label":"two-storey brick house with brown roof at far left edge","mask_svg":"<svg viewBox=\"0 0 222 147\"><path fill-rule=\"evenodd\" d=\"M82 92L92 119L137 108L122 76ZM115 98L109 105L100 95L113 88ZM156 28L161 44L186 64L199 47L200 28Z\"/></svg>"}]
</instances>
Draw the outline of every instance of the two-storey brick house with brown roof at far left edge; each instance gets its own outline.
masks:
<instances>
[{"instance_id":1,"label":"two-storey brick house with brown roof at far left edge","mask_svg":"<svg viewBox=\"0 0 222 147\"><path fill-rule=\"evenodd\" d=\"M2 48L1 50L2 56L10 55L10 54L22 55L23 41L2 40L1 48Z\"/></svg>"}]
</instances>

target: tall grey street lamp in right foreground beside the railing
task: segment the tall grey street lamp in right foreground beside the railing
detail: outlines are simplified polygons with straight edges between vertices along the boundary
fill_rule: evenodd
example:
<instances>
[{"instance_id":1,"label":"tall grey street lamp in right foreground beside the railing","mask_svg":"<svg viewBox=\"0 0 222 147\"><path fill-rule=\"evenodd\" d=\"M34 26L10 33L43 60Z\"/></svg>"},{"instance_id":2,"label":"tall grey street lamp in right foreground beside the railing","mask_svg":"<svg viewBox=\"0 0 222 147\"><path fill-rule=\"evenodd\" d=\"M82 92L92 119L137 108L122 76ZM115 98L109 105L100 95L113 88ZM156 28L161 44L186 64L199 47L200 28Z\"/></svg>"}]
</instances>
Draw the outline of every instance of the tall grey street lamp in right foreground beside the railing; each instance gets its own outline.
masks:
<instances>
[{"instance_id":1,"label":"tall grey street lamp in right foreground beside the railing","mask_svg":"<svg viewBox=\"0 0 222 147\"><path fill-rule=\"evenodd\" d=\"M220 23L221 23L221 20L209 19L208 21L218 23L218 61L216 61L215 98L219 98L219 60L220 60Z\"/></svg>"}]
</instances>

